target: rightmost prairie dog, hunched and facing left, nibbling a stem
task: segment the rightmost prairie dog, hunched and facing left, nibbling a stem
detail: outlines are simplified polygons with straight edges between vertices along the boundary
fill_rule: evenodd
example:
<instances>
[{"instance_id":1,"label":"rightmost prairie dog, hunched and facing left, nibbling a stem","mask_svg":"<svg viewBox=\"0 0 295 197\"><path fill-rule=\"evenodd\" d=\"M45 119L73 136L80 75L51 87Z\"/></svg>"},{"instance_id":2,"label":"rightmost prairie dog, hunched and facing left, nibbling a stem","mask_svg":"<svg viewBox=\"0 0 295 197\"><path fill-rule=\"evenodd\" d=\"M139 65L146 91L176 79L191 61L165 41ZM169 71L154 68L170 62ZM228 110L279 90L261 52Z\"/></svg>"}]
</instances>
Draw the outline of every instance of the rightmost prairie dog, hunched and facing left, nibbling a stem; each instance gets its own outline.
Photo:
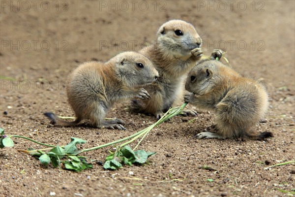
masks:
<instances>
[{"instance_id":1,"label":"rightmost prairie dog, hunched and facing left, nibbling a stem","mask_svg":"<svg viewBox=\"0 0 295 197\"><path fill-rule=\"evenodd\" d=\"M221 54L217 50L212 57L220 59ZM268 107L265 87L258 81L241 76L220 61L204 60L189 72L185 89L191 92L184 96L185 102L214 110L216 115L217 132L201 132L196 137L261 140L272 136L271 132L252 131Z\"/></svg>"}]
</instances>

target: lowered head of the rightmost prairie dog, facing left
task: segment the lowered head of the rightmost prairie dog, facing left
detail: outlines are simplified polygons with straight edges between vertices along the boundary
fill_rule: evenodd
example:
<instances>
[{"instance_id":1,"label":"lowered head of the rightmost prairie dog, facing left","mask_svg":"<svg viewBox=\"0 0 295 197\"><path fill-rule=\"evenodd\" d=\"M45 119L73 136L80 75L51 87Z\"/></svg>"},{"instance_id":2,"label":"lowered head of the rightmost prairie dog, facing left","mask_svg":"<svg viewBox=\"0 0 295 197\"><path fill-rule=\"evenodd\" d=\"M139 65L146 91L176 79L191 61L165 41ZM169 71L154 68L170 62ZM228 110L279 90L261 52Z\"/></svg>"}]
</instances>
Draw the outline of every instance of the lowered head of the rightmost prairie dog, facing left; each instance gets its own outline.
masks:
<instances>
[{"instance_id":1,"label":"lowered head of the rightmost prairie dog, facing left","mask_svg":"<svg viewBox=\"0 0 295 197\"><path fill-rule=\"evenodd\" d=\"M216 60L200 62L189 73L185 83L185 90L195 95L205 95L212 91L218 83L218 66L223 65Z\"/></svg>"}]
</instances>

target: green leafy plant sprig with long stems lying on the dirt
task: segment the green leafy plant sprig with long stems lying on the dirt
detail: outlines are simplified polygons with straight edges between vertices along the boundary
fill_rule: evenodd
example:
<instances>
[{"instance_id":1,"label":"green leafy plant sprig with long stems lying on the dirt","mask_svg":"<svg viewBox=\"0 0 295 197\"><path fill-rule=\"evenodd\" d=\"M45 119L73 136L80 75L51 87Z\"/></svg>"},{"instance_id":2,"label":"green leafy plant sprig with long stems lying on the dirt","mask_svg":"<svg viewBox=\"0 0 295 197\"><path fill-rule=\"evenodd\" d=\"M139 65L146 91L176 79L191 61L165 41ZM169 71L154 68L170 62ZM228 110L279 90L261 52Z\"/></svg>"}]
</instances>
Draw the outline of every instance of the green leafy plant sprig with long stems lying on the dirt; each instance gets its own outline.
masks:
<instances>
[{"instance_id":1,"label":"green leafy plant sprig with long stems lying on the dirt","mask_svg":"<svg viewBox=\"0 0 295 197\"><path fill-rule=\"evenodd\" d=\"M147 136L148 132L151 131L154 127L160 125L161 123L169 120L170 118L177 116L182 113L183 108L187 103L183 103L180 107L173 107L169 109L156 123L150 125L148 128L145 128L141 131L138 131L128 137L118 139L100 146L95 146L88 149L78 149L77 144L84 144L86 140L71 137L71 141L64 146L51 145L38 142L29 137L22 135L5 135L4 129L0 129L0 148L4 147L13 147L14 143L12 138L18 137L23 138L29 141L32 141L36 144L47 146L50 148L45 149L28 149L28 150L18 150L25 153L28 153L39 159L41 164L48 165L52 164L54 167L60 167L61 165L68 170L81 171L92 167L92 164L87 162L87 158L83 156L78 156L81 153L97 150L103 147L111 146L123 141L126 141L120 144L115 153L112 153L106 158L104 168L106 169L118 169L122 164L132 165L132 164L144 164L146 163L148 157L156 154L155 152L146 152L145 150L134 151L143 139ZM66 117L69 118L69 117ZM127 144L132 143L136 139L140 138L140 141L137 143L135 148L132 150ZM44 152L47 151L47 152Z\"/></svg>"}]
</instances>

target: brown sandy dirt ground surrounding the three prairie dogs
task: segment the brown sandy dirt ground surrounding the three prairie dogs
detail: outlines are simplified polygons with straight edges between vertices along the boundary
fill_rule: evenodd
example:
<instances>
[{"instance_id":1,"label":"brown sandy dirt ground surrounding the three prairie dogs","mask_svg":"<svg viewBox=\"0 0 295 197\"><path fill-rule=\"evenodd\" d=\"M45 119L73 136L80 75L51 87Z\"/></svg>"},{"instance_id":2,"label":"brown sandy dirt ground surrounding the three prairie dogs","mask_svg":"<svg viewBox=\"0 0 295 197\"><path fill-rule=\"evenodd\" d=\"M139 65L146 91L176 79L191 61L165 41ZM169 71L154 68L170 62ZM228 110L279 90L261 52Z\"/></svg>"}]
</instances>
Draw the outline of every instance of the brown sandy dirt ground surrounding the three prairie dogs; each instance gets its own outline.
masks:
<instances>
[{"instance_id":1,"label":"brown sandy dirt ground surrounding the three prairie dogs","mask_svg":"<svg viewBox=\"0 0 295 197\"><path fill-rule=\"evenodd\" d=\"M0 149L0 196L294 196L294 164L264 168L295 159L295 1L0 3L0 122L7 134L59 145L74 136L87 140L80 147L89 148L154 123L129 102L115 105L107 116L123 119L126 131L56 127L43 113L74 116L64 88L68 74L85 61L138 51L170 19L193 24L205 54L223 49L236 71L265 82L270 107L266 121L254 129L274 134L266 141L196 139L214 123L213 112L197 109L193 122L194 117L178 116L148 134L139 149L157 152L149 164L109 171L94 163L81 173L42 166L17 149L44 147L14 138L13 148ZM83 156L104 162L108 149L113 147Z\"/></svg>"}]
</instances>

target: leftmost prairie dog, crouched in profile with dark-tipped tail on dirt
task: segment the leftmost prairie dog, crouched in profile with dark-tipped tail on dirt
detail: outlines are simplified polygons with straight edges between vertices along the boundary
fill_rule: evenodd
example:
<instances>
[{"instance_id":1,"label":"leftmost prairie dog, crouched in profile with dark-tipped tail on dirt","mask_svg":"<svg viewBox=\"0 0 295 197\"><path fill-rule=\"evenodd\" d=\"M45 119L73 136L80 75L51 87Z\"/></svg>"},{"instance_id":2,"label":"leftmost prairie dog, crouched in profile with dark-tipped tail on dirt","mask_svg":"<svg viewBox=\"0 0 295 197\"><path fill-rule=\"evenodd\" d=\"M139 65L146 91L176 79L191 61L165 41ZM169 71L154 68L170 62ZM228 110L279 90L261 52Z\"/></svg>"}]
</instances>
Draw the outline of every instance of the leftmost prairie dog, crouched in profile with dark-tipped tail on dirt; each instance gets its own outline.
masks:
<instances>
[{"instance_id":1,"label":"leftmost prairie dog, crouched in profile with dark-tipped tail on dirt","mask_svg":"<svg viewBox=\"0 0 295 197\"><path fill-rule=\"evenodd\" d=\"M67 97L76 120L68 122L53 113L45 115L60 126L75 126L88 119L96 128L125 130L122 120L104 120L108 110L119 101L149 99L141 87L156 81L158 76L148 58L136 52L120 53L106 63L86 62L68 77Z\"/></svg>"}]
</instances>

